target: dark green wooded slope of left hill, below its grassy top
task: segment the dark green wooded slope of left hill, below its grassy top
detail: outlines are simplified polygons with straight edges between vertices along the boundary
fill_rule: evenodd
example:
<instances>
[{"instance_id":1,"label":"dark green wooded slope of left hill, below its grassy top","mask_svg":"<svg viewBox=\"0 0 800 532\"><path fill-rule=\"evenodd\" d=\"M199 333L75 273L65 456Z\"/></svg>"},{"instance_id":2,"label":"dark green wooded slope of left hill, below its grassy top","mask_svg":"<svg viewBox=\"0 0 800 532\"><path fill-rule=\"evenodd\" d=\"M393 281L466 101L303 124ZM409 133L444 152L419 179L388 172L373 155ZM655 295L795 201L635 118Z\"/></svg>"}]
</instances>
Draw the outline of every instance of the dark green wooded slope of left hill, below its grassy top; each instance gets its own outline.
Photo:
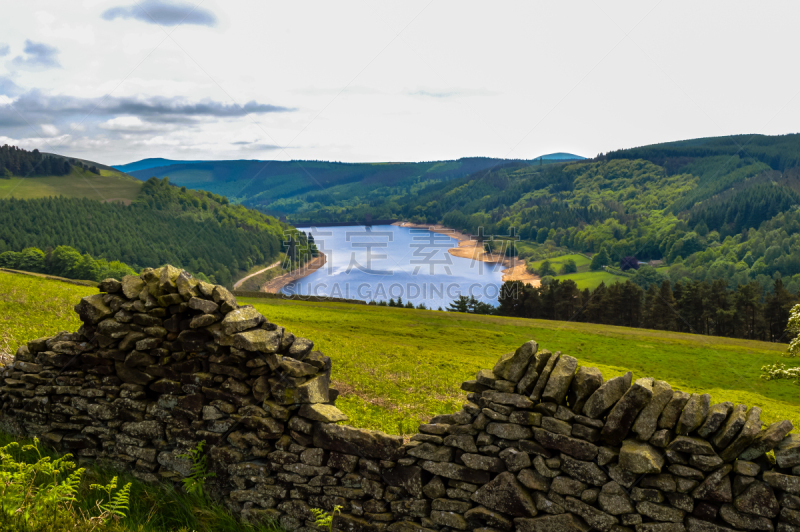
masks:
<instances>
[{"instance_id":1,"label":"dark green wooded slope of left hill, below its grassy top","mask_svg":"<svg viewBox=\"0 0 800 532\"><path fill-rule=\"evenodd\" d=\"M139 271L170 263L230 284L250 267L278 260L290 229L225 197L154 178L130 205L65 197L0 200L0 266L70 276L53 268L67 268L59 261L72 257L67 269L80 276L101 268L91 270L89 259L76 263L88 254L121 261L111 270L123 273L126 265ZM77 250L78 259L60 246Z\"/></svg>"}]
</instances>

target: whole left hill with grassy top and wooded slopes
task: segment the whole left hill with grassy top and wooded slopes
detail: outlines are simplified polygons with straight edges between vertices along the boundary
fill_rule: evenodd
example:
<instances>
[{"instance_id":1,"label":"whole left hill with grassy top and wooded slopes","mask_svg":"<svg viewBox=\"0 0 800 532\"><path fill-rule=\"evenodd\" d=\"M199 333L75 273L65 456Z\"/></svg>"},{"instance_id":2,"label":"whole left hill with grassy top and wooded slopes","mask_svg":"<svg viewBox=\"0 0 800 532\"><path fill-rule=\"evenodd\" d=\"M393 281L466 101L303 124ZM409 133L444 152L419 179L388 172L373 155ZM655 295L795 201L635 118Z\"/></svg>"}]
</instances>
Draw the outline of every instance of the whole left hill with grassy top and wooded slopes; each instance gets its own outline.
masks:
<instances>
[{"instance_id":1,"label":"whole left hill with grassy top and wooded slopes","mask_svg":"<svg viewBox=\"0 0 800 532\"><path fill-rule=\"evenodd\" d=\"M98 281L171 263L230 285L280 260L284 235L292 231L271 216L166 178L142 182L92 161L2 150L3 268ZM42 175L48 169L62 174ZM297 238L303 244L304 235Z\"/></svg>"}]
</instances>

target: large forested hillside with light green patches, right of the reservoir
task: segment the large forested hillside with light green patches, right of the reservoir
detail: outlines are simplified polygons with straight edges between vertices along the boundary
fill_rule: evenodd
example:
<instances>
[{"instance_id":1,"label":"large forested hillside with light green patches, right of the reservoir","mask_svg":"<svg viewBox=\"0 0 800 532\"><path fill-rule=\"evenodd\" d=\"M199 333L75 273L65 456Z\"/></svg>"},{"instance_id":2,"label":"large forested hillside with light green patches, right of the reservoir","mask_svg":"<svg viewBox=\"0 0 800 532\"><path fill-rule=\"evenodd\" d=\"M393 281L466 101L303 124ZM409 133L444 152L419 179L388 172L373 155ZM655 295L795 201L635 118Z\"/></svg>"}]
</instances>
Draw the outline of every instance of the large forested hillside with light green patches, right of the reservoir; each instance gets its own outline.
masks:
<instances>
[{"instance_id":1,"label":"large forested hillside with light green patches, right of the reservoir","mask_svg":"<svg viewBox=\"0 0 800 532\"><path fill-rule=\"evenodd\" d=\"M795 157L795 154L798 157ZM605 249L663 260L654 279L800 290L800 135L699 139L544 166L509 162L346 208L289 217L405 219L509 235L523 257ZM624 280L624 279L623 279Z\"/></svg>"}]
</instances>

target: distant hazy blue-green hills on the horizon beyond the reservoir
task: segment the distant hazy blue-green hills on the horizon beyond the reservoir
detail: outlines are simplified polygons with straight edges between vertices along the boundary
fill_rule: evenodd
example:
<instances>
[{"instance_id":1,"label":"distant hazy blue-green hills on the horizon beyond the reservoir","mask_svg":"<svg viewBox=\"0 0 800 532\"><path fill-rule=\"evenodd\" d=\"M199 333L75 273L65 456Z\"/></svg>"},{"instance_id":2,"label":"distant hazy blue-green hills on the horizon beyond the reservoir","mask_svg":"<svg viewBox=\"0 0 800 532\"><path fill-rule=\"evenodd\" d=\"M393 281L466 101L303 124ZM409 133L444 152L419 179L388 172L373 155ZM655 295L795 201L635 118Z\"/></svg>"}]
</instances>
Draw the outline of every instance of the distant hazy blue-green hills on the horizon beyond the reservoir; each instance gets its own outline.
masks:
<instances>
[{"instance_id":1,"label":"distant hazy blue-green hills on the horizon beyond the reservoir","mask_svg":"<svg viewBox=\"0 0 800 532\"><path fill-rule=\"evenodd\" d=\"M535 164L580 159L568 153ZM157 165L164 161L162 166ZM169 161L145 159L117 166L145 180L169 177L189 188L223 194L231 201L275 215L385 201L413 194L431 184L484 171L503 159L472 157L419 163L337 163L326 161Z\"/></svg>"}]
</instances>

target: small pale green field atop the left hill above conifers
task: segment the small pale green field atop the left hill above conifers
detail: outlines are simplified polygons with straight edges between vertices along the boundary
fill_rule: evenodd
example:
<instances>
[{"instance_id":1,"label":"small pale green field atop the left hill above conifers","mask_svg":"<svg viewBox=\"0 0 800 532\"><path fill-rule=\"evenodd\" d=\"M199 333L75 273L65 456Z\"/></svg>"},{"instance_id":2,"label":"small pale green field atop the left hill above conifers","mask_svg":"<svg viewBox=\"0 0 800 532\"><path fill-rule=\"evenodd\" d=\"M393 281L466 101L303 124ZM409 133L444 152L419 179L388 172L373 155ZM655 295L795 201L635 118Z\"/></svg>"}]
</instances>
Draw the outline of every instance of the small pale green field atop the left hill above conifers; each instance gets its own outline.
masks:
<instances>
[{"instance_id":1,"label":"small pale green field atop the left hill above conifers","mask_svg":"<svg viewBox=\"0 0 800 532\"><path fill-rule=\"evenodd\" d=\"M0 179L0 198L64 196L129 202L141 187L141 181L116 170L101 169L97 175L73 167L72 172L65 176Z\"/></svg>"}]
</instances>

